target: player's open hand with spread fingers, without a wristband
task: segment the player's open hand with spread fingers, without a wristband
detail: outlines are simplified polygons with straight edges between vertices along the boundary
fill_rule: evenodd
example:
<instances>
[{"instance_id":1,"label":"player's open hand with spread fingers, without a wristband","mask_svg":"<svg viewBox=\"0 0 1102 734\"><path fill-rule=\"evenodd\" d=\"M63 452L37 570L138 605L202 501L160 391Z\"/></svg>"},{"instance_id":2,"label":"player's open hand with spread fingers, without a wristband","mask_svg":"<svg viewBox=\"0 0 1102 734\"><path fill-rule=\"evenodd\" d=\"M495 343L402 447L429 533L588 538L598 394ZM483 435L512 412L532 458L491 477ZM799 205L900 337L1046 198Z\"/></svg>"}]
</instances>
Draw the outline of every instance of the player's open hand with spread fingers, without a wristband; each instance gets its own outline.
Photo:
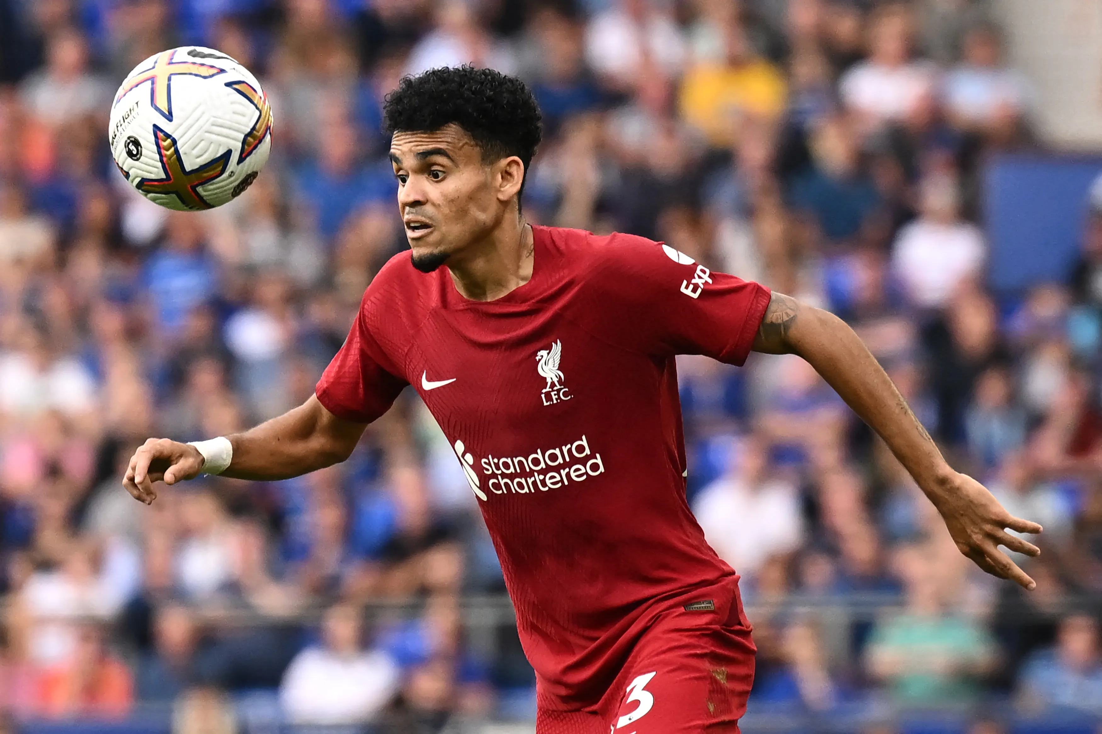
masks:
<instances>
[{"instance_id":1,"label":"player's open hand with spread fingers, without a wristband","mask_svg":"<svg viewBox=\"0 0 1102 734\"><path fill-rule=\"evenodd\" d=\"M943 491L931 500L944 518L957 548L976 566L1028 590L1037 585L998 546L1026 556L1038 556L1040 549L1037 546L1006 530L1036 534L1041 532L1040 525L1006 512L983 484L966 474L954 473Z\"/></svg>"}]
</instances>

